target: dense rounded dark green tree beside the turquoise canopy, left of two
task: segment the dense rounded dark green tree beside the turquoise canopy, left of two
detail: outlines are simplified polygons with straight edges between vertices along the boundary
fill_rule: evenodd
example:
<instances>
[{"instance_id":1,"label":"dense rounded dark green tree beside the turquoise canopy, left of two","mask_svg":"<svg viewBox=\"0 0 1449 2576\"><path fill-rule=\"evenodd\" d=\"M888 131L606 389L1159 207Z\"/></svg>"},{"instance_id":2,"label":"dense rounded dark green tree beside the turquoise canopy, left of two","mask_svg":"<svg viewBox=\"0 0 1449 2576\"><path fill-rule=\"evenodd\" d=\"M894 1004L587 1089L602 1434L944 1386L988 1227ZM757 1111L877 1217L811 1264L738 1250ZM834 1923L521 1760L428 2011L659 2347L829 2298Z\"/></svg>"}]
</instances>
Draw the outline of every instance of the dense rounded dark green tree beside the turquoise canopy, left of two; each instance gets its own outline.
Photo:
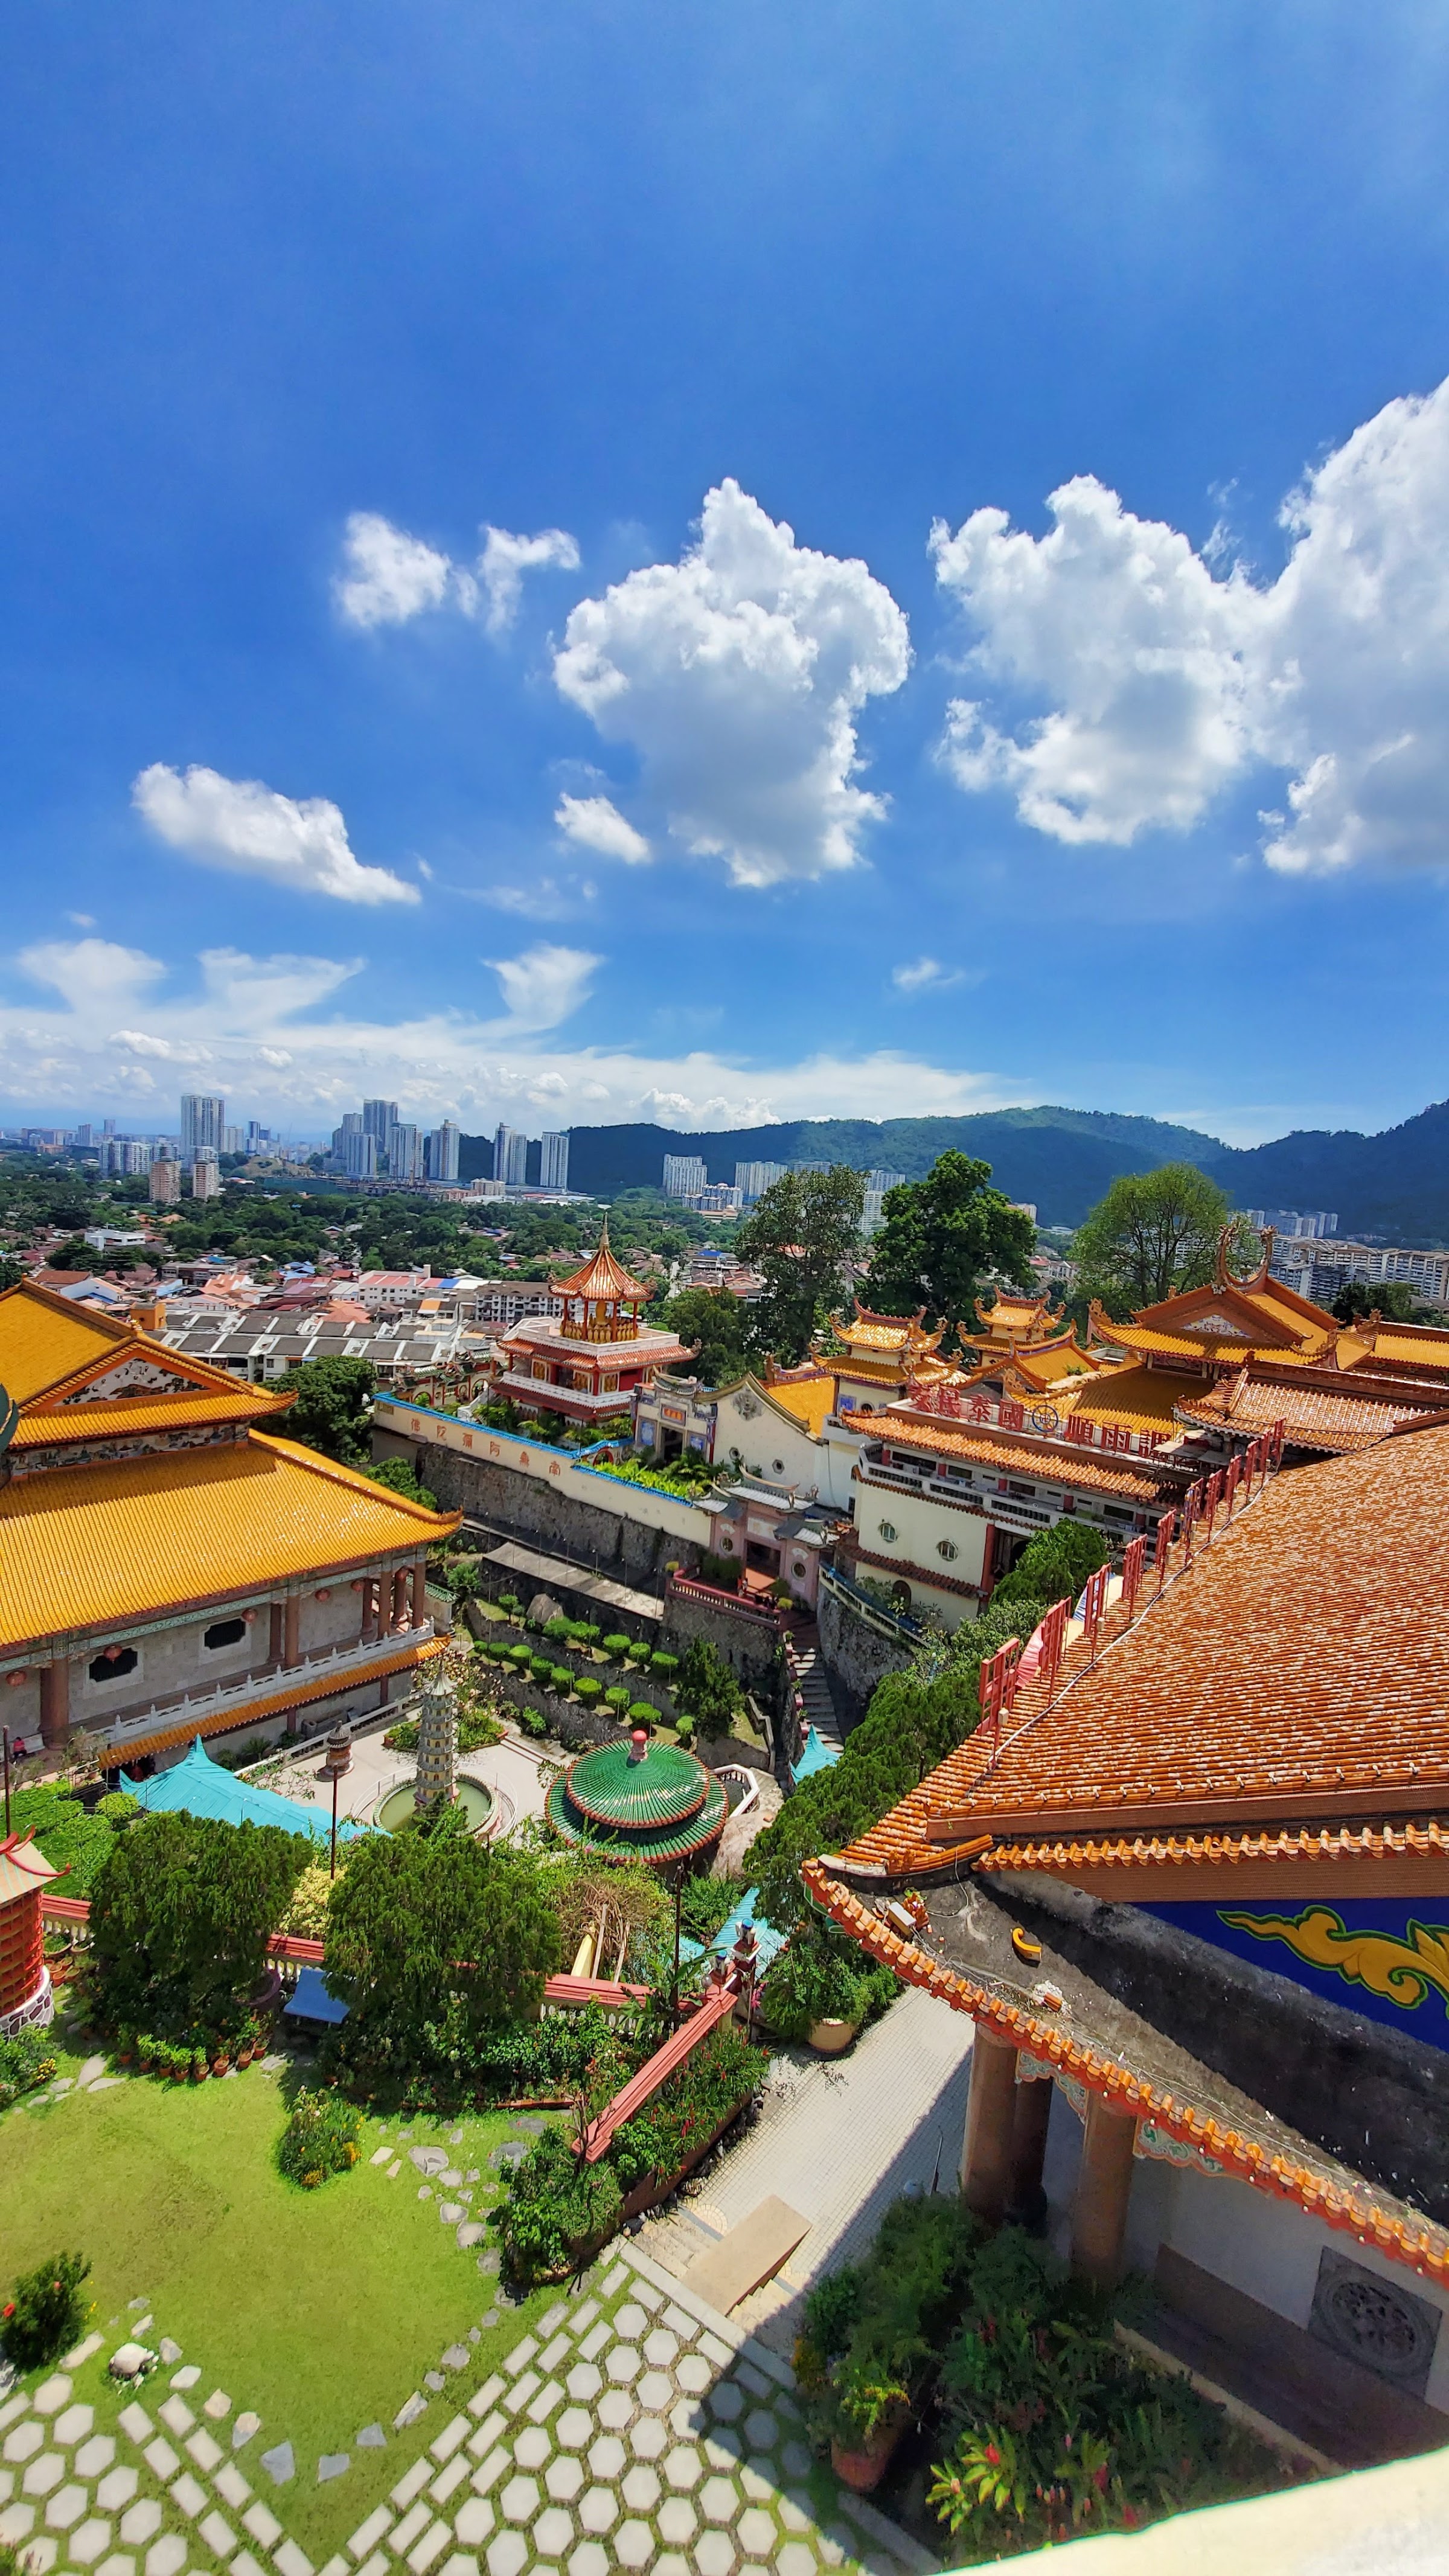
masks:
<instances>
[{"instance_id":1,"label":"dense rounded dark green tree beside the turquoise canopy, left of two","mask_svg":"<svg viewBox=\"0 0 1449 2576\"><path fill-rule=\"evenodd\" d=\"M211 1816L139 1816L116 1837L90 1896L101 2020L165 2032L227 2025L266 1963L307 1834Z\"/></svg>"}]
</instances>

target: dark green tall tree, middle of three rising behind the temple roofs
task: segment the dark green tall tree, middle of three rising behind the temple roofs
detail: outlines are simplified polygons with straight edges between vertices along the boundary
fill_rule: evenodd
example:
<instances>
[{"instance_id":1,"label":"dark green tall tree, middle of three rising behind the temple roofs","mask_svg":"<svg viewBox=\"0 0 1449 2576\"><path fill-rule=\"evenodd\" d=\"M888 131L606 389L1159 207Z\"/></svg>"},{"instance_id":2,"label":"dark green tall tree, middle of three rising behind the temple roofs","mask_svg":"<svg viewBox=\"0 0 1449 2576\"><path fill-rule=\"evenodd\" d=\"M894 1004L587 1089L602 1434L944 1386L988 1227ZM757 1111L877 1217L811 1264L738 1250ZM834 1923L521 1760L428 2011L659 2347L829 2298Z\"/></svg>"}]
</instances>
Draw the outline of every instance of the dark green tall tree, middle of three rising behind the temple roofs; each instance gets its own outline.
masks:
<instances>
[{"instance_id":1,"label":"dark green tall tree, middle of three rising behind the temple roofs","mask_svg":"<svg viewBox=\"0 0 1449 2576\"><path fill-rule=\"evenodd\" d=\"M941 1154L926 1180L887 1190L882 1218L871 1244L877 1314L926 1306L928 1324L959 1324L969 1340L985 1273L1003 1270L1018 1288L1031 1285L1036 1229L990 1188L990 1162Z\"/></svg>"}]
</instances>

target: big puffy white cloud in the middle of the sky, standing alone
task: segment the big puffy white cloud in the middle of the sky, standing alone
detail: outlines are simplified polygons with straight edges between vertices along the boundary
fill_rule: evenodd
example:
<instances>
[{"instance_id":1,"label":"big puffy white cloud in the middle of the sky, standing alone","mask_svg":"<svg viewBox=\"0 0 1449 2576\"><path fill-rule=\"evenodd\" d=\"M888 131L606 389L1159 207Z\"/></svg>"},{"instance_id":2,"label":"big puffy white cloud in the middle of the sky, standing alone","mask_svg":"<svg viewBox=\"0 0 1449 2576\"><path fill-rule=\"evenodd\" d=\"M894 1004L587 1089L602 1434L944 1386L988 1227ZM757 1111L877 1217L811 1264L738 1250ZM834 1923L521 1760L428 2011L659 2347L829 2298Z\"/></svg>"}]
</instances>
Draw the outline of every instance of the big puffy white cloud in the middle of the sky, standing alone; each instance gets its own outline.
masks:
<instances>
[{"instance_id":1,"label":"big puffy white cloud in the middle of the sky, standing alone","mask_svg":"<svg viewBox=\"0 0 1449 2576\"><path fill-rule=\"evenodd\" d=\"M639 755L670 835L737 886L856 866L884 814L853 783L856 719L908 667L884 582L797 546L732 479L678 564L580 600L554 654L562 696Z\"/></svg>"}]
</instances>

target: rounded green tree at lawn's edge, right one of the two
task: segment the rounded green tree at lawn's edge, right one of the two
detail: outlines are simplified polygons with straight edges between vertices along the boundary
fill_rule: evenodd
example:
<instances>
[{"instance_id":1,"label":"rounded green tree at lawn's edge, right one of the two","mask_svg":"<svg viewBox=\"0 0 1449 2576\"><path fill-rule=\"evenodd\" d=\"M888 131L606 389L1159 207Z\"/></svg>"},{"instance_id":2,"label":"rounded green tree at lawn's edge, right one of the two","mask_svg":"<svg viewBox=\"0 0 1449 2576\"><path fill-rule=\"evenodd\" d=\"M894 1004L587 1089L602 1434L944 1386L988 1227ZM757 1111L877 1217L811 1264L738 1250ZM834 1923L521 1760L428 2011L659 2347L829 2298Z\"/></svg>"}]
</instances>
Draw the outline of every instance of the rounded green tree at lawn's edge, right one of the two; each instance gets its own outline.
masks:
<instances>
[{"instance_id":1,"label":"rounded green tree at lawn's edge, right one of the two","mask_svg":"<svg viewBox=\"0 0 1449 2576\"><path fill-rule=\"evenodd\" d=\"M472 2035L534 2017L557 1963L539 1860L467 1834L366 1837L327 1906L322 1973L348 2038L387 2035L402 2056L449 2004Z\"/></svg>"}]
</instances>

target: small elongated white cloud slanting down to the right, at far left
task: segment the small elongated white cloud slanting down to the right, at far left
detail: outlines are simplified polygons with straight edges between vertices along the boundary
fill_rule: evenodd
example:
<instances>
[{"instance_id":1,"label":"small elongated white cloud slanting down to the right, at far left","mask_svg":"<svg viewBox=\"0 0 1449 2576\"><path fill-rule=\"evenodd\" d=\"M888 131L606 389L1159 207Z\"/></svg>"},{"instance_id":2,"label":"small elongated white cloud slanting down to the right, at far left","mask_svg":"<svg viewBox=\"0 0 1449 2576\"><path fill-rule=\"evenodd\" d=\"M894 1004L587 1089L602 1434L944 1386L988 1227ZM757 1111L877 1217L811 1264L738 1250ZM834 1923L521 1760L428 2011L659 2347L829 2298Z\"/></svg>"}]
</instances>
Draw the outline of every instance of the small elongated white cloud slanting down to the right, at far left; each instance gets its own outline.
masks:
<instances>
[{"instance_id":1,"label":"small elongated white cloud slanting down to the right, at far left","mask_svg":"<svg viewBox=\"0 0 1449 2576\"><path fill-rule=\"evenodd\" d=\"M389 868L364 868L330 796L278 796L260 778L219 770L170 770L155 760L131 786L131 804L173 850L204 868L263 876L297 894L330 894L340 904L415 904Z\"/></svg>"}]
</instances>

